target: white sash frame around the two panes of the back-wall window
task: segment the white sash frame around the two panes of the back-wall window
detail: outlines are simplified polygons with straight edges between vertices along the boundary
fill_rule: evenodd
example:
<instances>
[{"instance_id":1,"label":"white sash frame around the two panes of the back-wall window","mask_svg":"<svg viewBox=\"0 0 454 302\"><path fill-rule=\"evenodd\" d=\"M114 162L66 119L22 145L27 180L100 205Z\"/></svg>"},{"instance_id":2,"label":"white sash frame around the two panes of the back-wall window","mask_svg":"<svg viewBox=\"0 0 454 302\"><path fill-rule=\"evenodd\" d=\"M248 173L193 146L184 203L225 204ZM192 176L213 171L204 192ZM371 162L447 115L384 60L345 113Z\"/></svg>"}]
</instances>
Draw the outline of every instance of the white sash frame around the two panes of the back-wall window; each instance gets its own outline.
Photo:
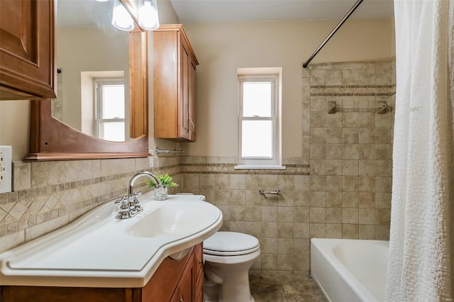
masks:
<instances>
[{"instance_id":1,"label":"white sash frame around the two panes of the back-wall window","mask_svg":"<svg viewBox=\"0 0 454 302\"><path fill-rule=\"evenodd\" d=\"M243 84L245 82L271 82L271 114L270 117L243 116ZM281 134L279 118L279 74L238 74L238 166L235 169L282 169ZM272 157L243 157L243 121L272 122Z\"/></svg>"}]
</instances>

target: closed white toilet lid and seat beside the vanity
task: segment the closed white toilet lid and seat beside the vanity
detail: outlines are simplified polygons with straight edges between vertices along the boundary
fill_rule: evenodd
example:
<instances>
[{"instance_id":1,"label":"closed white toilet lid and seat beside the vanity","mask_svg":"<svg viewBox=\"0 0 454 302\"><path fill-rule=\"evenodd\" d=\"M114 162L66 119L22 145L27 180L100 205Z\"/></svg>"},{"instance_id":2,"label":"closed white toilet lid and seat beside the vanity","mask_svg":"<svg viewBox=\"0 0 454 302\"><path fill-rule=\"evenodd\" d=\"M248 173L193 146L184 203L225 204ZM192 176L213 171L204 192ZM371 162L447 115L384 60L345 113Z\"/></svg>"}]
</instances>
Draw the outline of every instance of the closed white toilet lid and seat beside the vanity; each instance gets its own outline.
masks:
<instances>
[{"instance_id":1,"label":"closed white toilet lid and seat beside the vanity","mask_svg":"<svg viewBox=\"0 0 454 302\"><path fill-rule=\"evenodd\" d=\"M204 241L204 252L211 255L244 255L259 247L256 237L236 232L216 232Z\"/></svg>"}]
</instances>

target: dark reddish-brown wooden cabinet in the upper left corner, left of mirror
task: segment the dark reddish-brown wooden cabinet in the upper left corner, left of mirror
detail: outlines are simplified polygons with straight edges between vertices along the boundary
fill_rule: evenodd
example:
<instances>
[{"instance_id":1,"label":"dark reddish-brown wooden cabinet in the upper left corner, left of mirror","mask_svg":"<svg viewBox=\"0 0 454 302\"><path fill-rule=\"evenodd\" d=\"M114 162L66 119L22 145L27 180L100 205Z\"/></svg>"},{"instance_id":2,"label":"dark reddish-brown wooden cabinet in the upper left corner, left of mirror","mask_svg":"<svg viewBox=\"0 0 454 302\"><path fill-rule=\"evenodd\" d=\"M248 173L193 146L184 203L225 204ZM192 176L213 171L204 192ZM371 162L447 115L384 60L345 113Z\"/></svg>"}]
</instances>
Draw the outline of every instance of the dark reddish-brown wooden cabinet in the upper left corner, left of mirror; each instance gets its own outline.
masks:
<instances>
[{"instance_id":1,"label":"dark reddish-brown wooden cabinet in the upper left corner, left of mirror","mask_svg":"<svg viewBox=\"0 0 454 302\"><path fill-rule=\"evenodd\" d=\"M0 1L0 100L55 98L54 0Z\"/></svg>"}]
</instances>

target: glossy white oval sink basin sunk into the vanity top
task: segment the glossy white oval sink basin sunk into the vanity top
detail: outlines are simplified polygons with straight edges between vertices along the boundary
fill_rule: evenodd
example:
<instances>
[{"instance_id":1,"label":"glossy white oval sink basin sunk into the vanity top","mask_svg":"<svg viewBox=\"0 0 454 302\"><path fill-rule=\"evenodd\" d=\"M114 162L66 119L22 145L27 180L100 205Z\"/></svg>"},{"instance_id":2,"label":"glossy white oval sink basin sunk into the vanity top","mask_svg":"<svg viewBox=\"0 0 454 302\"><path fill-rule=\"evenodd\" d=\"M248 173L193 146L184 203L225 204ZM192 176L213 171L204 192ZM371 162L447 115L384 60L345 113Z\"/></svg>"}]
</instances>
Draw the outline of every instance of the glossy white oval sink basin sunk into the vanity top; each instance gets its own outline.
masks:
<instances>
[{"instance_id":1,"label":"glossy white oval sink basin sunk into the vanity top","mask_svg":"<svg viewBox=\"0 0 454 302\"><path fill-rule=\"evenodd\" d=\"M219 218L219 211L200 201L167 201L128 228L138 237L184 237L204 230Z\"/></svg>"}]
</instances>

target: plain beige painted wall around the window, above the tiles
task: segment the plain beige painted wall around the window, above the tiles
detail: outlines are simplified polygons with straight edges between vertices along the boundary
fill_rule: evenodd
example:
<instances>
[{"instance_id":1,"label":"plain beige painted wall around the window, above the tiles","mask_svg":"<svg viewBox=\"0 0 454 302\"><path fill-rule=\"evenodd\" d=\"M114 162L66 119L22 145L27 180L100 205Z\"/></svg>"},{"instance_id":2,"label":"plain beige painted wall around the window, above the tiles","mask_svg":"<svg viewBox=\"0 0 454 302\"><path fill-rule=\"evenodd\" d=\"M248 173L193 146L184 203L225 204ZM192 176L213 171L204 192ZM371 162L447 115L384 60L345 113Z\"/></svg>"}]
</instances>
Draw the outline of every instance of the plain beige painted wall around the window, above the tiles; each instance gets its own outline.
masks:
<instances>
[{"instance_id":1,"label":"plain beige painted wall around the window, above the tiles","mask_svg":"<svg viewBox=\"0 0 454 302\"><path fill-rule=\"evenodd\" d=\"M301 156L301 63L337 21L185 23L197 67L197 142L189 155L238 156L237 68L282 67L282 156ZM349 20L312 62L390 60L392 20Z\"/></svg>"}]
</instances>

